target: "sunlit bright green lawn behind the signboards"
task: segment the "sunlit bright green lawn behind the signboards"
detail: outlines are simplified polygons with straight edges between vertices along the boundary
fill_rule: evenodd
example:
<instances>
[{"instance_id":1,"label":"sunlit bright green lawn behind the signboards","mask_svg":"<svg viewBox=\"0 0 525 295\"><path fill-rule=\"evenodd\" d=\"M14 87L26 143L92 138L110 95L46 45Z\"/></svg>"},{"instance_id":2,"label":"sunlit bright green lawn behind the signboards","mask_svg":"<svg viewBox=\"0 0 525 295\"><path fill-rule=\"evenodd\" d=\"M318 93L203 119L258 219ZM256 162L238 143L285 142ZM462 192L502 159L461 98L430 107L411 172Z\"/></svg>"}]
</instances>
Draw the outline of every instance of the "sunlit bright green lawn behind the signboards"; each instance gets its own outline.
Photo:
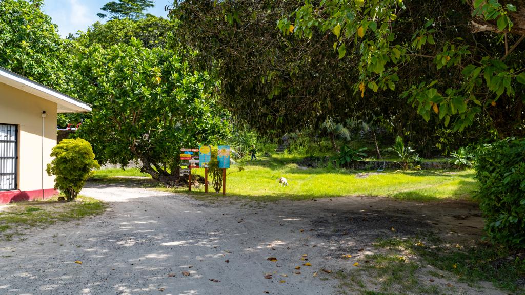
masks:
<instances>
[{"instance_id":1,"label":"sunlit bright green lawn behind the signboards","mask_svg":"<svg viewBox=\"0 0 525 295\"><path fill-rule=\"evenodd\" d=\"M257 161L240 160L227 170L228 195L260 201L278 199L309 199L338 196L387 196L404 200L433 201L439 199L469 199L477 189L473 170L465 171L384 171L384 174L356 177L357 173L337 167L300 170L295 164L301 159L295 155L273 155ZM244 171L239 171L242 166ZM198 174L203 175L204 169ZM138 169L100 170L95 178L115 176L144 176ZM288 187L281 187L277 179L285 177ZM187 192L185 188L175 189ZM213 191L210 186L209 191ZM192 194L203 195L204 186L193 188ZM208 193L214 195L214 193Z\"/></svg>"}]
</instances>

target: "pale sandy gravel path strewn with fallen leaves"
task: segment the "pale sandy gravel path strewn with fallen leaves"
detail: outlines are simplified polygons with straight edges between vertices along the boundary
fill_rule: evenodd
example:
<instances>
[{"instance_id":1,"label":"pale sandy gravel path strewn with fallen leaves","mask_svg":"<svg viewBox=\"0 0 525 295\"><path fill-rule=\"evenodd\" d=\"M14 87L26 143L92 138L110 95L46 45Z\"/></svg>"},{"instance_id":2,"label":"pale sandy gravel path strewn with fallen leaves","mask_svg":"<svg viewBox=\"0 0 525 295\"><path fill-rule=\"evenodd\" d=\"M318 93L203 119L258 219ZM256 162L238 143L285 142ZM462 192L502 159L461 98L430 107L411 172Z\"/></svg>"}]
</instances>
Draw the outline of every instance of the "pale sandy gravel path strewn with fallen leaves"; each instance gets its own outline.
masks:
<instances>
[{"instance_id":1,"label":"pale sandy gravel path strewn with fallen leaves","mask_svg":"<svg viewBox=\"0 0 525 295\"><path fill-rule=\"evenodd\" d=\"M464 227L452 217L476 213L470 204L201 202L120 184L89 184L82 194L109 202L108 212L0 243L0 294L334 294L338 281L321 269L351 269L376 237L439 224L469 239L482 226L476 216L460 220ZM346 253L353 257L342 259Z\"/></svg>"}]
</instances>

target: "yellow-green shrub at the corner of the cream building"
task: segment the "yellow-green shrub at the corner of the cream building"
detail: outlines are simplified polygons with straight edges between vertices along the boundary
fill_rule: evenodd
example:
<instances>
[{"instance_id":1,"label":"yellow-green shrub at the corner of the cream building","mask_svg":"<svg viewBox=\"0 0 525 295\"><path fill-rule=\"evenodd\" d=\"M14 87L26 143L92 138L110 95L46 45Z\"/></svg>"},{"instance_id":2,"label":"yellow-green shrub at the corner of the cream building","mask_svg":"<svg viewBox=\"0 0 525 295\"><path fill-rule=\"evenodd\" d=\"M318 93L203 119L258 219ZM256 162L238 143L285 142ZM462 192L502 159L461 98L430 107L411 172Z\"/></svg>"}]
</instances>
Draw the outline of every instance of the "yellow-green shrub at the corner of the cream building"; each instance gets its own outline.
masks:
<instances>
[{"instance_id":1,"label":"yellow-green shrub at the corner of the cream building","mask_svg":"<svg viewBox=\"0 0 525 295\"><path fill-rule=\"evenodd\" d=\"M55 157L47 164L47 174L55 175L55 188L66 195L67 201L73 201L93 168L100 168L95 160L91 144L83 139L65 139L53 148Z\"/></svg>"}]
</instances>

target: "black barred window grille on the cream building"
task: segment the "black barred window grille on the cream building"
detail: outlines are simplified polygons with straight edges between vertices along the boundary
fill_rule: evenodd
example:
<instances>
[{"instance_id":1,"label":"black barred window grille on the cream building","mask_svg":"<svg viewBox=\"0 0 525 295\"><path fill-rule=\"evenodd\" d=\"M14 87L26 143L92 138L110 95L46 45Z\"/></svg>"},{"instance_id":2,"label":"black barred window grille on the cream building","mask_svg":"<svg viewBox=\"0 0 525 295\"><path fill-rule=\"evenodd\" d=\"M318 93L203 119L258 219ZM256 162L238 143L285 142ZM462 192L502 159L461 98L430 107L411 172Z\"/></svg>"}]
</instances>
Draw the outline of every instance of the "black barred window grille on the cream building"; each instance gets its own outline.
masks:
<instances>
[{"instance_id":1,"label":"black barred window grille on the cream building","mask_svg":"<svg viewBox=\"0 0 525 295\"><path fill-rule=\"evenodd\" d=\"M0 124L0 191L17 188L17 134L16 125Z\"/></svg>"}]
</instances>

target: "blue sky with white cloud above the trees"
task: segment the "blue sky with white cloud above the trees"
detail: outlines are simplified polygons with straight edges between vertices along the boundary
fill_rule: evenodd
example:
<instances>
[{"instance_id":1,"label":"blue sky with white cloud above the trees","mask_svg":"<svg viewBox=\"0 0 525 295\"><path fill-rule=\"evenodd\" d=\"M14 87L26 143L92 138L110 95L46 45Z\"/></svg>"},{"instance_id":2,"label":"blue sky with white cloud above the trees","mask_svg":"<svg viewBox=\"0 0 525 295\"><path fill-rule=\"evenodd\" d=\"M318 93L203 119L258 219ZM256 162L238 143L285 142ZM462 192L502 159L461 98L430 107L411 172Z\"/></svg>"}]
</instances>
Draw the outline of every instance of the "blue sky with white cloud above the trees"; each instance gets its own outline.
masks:
<instances>
[{"instance_id":1,"label":"blue sky with white cloud above the trees","mask_svg":"<svg viewBox=\"0 0 525 295\"><path fill-rule=\"evenodd\" d=\"M100 18L97 13L103 13L100 7L110 0L45 0L42 10L58 25L59 34L66 37L69 33L86 29ZM166 17L164 6L173 3L173 0L155 0L155 7L147 13Z\"/></svg>"}]
</instances>

